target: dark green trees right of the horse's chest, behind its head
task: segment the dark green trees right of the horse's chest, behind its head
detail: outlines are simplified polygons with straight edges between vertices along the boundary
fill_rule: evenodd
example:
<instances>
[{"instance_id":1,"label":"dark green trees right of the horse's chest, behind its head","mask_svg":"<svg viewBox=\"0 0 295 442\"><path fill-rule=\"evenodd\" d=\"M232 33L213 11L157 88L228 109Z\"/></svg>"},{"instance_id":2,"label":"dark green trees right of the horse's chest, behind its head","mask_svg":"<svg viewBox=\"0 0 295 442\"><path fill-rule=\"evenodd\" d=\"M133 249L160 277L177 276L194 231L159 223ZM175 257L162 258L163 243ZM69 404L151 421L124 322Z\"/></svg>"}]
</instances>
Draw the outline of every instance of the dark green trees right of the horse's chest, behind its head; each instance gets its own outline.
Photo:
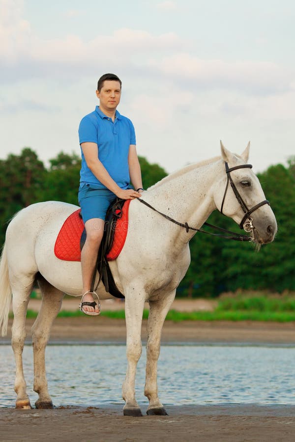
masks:
<instances>
[{"instance_id":1,"label":"dark green trees right of the horse's chest, behind its head","mask_svg":"<svg viewBox=\"0 0 295 442\"><path fill-rule=\"evenodd\" d=\"M179 285L177 296L218 296L238 288L295 290L295 175L289 168L271 166L259 175L276 216L278 233L273 243L258 252L250 243L238 243L197 233L190 241L191 266ZM234 221L215 211L208 222L240 232ZM206 228L207 230L207 228Z\"/></svg>"}]
</instances>

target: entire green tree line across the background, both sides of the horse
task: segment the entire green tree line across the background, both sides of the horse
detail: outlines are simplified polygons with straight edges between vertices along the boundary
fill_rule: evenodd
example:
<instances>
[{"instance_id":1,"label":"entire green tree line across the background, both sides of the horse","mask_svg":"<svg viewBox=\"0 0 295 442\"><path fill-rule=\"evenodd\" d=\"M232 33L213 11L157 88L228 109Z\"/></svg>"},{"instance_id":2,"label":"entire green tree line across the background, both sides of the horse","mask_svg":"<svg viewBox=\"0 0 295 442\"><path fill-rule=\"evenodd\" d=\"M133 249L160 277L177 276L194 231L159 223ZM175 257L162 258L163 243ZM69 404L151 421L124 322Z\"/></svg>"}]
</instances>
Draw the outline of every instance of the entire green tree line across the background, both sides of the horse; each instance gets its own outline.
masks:
<instances>
[{"instance_id":1,"label":"entire green tree line across the background, both sides of the horse","mask_svg":"<svg viewBox=\"0 0 295 442\"><path fill-rule=\"evenodd\" d=\"M167 175L157 164L140 157L145 188ZM60 152L44 166L25 147L20 155L0 160L0 244L11 217L29 204L59 200L78 204L81 160L75 153ZM273 243L259 252L250 243L238 243L197 233L190 241L191 264L181 281L178 296L218 296L221 292L295 290L295 157L288 166L270 166L258 175L278 224ZM234 221L214 211L211 224L239 232Z\"/></svg>"}]
</instances>

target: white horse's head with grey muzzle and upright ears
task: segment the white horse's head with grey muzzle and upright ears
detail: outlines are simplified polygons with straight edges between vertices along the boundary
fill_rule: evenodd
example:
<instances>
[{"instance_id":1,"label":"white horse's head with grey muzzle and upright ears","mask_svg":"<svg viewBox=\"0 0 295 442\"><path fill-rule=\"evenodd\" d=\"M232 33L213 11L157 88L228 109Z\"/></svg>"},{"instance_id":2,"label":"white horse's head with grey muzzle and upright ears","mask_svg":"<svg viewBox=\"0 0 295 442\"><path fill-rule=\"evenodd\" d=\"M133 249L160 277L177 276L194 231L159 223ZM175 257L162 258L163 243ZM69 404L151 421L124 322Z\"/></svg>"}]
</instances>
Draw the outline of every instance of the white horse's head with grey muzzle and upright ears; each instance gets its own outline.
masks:
<instances>
[{"instance_id":1,"label":"white horse's head with grey muzzle and upright ears","mask_svg":"<svg viewBox=\"0 0 295 442\"><path fill-rule=\"evenodd\" d=\"M248 165L250 142L241 155L227 150L221 142L223 176L215 187L216 207L250 232L257 244L273 241L277 232L275 216L260 182Z\"/></svg>"}]
</instances>

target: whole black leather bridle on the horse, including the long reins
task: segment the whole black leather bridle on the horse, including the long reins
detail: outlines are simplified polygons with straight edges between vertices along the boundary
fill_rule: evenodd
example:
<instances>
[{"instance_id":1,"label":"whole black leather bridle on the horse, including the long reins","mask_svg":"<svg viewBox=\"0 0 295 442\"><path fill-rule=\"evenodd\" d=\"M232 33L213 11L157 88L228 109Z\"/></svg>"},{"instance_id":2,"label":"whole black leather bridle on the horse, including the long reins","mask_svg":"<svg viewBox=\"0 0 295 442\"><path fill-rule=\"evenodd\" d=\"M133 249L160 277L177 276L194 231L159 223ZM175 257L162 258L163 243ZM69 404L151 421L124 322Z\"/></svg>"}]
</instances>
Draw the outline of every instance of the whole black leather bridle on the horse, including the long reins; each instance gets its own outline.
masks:
<instances>
[{"instance_id":1,"label":"whole black leather bridle on the horse, including the long reins","mask_svg":"<svg viewBox=\"0 0 295 442\"><path fill-rule=\"evenodd\" d=\"M248 241L251 242L254 240L254 225L252 224L253 219L250 217L250 215L259 207L268 204L269 205L269 201L264 200L258 204L256 204L255 206L253 206L251 209L248 209L246 203L244 202L243 198L241 197L241 195L239 194L235 183L233 182L233 179L231 177L231 173L233 170L237 170L237 169L243 169L243 168L252 168L251 164L244 164L244 165L240 165L240 166L234 166L234 167L229 167L227 162L225 162L225 171L227 173L227 183L226 183L226 188L225 188L225 192L223 195L223 199L222 199L222 204L221 204L221 209L220 212L223 214L223 205L224 205L224 201L225 201L225 197L227 194L227 190L229 187L229 183L231 184L231 187L233 189L233 192L236 195L236 199L238 200L243 212L244 212L244 216L241 220L241 222L239 223L239 227L241 229L244 229L245 232L250 233L250 236L247 235L238 235L236 232L232 232L231 230L227 230L227 229L223 229L221 227L217 227L215 225L209 224L208 222L204 222L204 225L207 225L208 227L211 227L215 230L219 230L222 231L224 233L229 233L233 236L229 236L229 235L220 235L218 233L211 233L211 232L207 232L206 230L203 229L196 229L195 227L191 227L188 225L187 222L183 223L183 222L179 222L174 220L173 218L169 217L168 215L165 215L162 212L159 212L158 210L156 210L154 207L152 207L150 204L148 204L147 201L145 201L144 199L141 198L136 198L137 201L140 201L142 204L146 205L147 207L149 207L150 209L152 209L153 211L157 212L158 214L162 215L162 217L166 218L166 220L169 220L171 222L174 222L175 224L179 225L180 227L184 227L186 232L188 232L189 230L194 230L196 232L202 232L202 233L207 233L207 235L213 235L213 236L218 236L220 238L226 238L226 239L232 239L232 240L236 240L236 241ZM223 214L224 215L224 214ZM247 222L245 223L245 221L247 220Z\"/></svg>"}]
</instances>

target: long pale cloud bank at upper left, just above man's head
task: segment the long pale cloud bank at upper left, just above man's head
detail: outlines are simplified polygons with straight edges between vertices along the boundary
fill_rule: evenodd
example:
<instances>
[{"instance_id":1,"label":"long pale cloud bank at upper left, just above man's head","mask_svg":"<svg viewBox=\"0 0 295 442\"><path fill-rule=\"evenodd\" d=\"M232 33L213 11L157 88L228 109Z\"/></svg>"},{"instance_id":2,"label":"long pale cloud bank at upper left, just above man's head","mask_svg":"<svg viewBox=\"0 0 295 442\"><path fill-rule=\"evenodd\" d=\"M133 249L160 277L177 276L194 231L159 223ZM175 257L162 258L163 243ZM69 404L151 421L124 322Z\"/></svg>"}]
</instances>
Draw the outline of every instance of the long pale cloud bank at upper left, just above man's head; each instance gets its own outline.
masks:
<instances>
[{"instance_id":1,"label":"long pale cloud bank at upper left, just above man's head","mask_svg":"<svg viewBox=\"0 0 295 442\"><path fill-rule=\"evenodd\" d=\"M77 35L45 40L31 31L19 9L7 7L5 11L0 18L0 79L8 83L18 81L20 73L22 79L78 80L102 65L115 66L116 70L129 66L137 71L145 67L151 54L169 54L183 46L174 32L152 35L128 28L88 42Z\"/></svg>"}]
</instances>

